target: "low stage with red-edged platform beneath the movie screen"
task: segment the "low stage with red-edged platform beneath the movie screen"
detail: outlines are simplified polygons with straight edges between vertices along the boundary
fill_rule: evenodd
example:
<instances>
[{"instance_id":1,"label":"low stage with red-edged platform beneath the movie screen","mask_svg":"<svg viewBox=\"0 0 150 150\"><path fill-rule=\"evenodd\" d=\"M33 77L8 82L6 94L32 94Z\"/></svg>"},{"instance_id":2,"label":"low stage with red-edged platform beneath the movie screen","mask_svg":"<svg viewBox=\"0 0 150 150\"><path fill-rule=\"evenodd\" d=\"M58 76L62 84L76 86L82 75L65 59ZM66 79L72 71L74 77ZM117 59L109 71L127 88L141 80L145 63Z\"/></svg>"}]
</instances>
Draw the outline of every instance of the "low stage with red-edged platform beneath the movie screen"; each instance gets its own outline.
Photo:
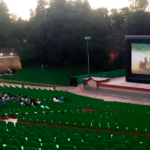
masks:
<instances>
[{"instance_id":1,"label":"low stage with red-edged platform beneath the movie screen","mask_svg":"<svg viewBox=\"0 0 150 150\"><path fill-rule=\"evenodd\" d=\"M125 77L112 78L97 87L85 85L85 90L96 94L150 101L150 84L126 82Z\"/></svg>"}]
</instances>

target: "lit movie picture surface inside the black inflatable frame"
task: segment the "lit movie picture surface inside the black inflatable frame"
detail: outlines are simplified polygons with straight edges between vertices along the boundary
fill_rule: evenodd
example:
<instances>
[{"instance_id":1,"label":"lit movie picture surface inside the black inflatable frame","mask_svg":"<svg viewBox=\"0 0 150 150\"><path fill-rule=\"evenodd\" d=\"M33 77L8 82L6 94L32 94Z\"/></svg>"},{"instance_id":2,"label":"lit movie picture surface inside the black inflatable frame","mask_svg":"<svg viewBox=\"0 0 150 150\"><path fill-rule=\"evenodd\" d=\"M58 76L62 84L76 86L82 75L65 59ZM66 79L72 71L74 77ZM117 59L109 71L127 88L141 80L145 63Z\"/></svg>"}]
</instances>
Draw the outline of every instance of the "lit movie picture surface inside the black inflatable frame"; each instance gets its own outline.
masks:
<instances>
[{"instance_id":1,"label":"lit movie picture surface inside the black inflatable frame","mask_svg":"<svg viewBox=\"0 0 150 150\"><path fill-rule=\"evenodd\" d=\"M131 43L131 74L150 75L150 43Z\"/></svg>"}]
</instances>

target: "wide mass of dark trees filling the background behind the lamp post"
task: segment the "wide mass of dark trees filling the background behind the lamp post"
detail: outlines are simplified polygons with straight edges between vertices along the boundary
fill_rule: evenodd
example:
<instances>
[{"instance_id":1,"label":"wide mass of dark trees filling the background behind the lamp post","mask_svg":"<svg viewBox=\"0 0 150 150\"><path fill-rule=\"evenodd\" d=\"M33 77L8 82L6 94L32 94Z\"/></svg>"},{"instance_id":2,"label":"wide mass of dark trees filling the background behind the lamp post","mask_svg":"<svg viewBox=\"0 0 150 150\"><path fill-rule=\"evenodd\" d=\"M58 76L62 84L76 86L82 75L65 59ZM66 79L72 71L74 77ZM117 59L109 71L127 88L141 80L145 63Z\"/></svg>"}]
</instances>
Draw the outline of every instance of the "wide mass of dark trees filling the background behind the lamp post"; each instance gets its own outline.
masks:
<instances>
[{"instance_id":1,"label":"wide mass of dark trees filling the background behind the lamp post","mask_svg":"<svg viewBox=\"0 0 150 150\"><path fill-rule=\"evenodd\" d=\"M148 1L130 3L129 7L108 11L92 9L87 0L38 0L26 21L9 14L1 1L0 47L15 47L24 65L87 66L84 37L91 36L92 69L124 68L124 35L150 34Z\"/></svg>"}]
</instances>

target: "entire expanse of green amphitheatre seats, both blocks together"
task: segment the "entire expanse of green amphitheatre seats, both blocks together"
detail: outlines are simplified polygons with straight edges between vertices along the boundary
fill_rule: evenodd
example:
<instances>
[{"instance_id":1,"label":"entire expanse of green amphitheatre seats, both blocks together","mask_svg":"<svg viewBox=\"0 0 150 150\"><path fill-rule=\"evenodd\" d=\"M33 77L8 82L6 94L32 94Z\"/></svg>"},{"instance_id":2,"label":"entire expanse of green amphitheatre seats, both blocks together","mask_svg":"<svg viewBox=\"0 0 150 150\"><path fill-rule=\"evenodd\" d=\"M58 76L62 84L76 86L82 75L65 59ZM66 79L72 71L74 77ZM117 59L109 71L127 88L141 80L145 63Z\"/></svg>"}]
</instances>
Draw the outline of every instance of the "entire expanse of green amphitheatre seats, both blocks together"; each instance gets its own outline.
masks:
<instances>
[{"instance_id":1,"label":"entire expanse of green amphitheatre seats, both blocks together","mask_svg":"<svg viewBox=\"0 0 150 150\"><path fill-rule=\"evenodd\" d=\"M0 109L0 150L148 150L150 149L150 106L109 102L52 91L0 87L0 92L27 95L41 101L37 107L7 102ZM55 103L51 97L65 95Z\"/></svg>"}]
</instances>

